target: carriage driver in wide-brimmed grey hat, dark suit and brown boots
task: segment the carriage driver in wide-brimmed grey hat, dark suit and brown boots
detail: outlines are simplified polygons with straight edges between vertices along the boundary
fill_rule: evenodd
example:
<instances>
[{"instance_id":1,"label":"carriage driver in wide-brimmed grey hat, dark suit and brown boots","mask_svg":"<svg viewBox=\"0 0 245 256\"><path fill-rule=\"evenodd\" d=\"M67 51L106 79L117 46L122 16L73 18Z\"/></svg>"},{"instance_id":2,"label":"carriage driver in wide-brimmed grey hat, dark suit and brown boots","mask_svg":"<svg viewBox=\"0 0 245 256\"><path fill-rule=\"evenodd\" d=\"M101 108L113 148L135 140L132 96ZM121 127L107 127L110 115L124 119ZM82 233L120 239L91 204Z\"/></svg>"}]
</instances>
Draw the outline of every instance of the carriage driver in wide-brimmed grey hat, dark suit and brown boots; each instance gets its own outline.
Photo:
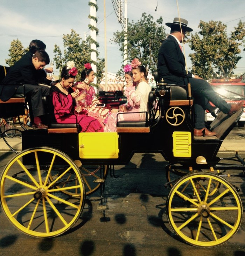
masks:
<instances>
[{"instance_id":1,"label":"carriage driver in wide-brimmed grey hat, dark suit and brown boots","mask_svg":"<svg viewBox=\"0 0 245 256\"><path fill-rule=\"evenodd\" d=\"M195 105L195 136L215 136L215 132L209 131L205 128L204 115L205 110L211 110L209 101L217 106L224 113L229 115L237 112L244 104L228 104L211 88L210 84L186 71L186 64L184 55L182 53L181 42L184 39L186 32L191 32L193 29L189 28L188 21L181 18L174 18L173 22L166 23L171 28L170 35L162 42L158 54L158 74L160 79L163 78L168 84L187 85L191 84L192 94L194 96Z\"/></svg>"}]
</instances>

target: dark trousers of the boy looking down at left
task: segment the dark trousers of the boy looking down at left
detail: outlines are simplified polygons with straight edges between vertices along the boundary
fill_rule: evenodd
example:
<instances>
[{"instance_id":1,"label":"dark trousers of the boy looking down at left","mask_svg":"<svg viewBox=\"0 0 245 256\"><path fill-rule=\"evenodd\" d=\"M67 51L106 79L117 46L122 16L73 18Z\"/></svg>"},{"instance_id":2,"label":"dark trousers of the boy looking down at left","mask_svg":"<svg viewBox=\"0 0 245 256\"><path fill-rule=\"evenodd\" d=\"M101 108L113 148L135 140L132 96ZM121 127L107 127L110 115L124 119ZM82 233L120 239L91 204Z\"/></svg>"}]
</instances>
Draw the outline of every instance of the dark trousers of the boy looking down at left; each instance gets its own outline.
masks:
<instances>
[{"instance_id":1,"label":"dark trousers of the boy looking down at left","mask_svg":"<svg viewBox=\"0 0 245 256\"><path fill-rule=\"evenodd\" d=\"M34 117L45 115L45 108L43 106L42 96L49 95L49 87L42 85L24 84L25 95L29 104L29 111ZM18 89L22 90L20 87ZM18 89L16 92L18 92Z\"/></svg>"}]
</instances>

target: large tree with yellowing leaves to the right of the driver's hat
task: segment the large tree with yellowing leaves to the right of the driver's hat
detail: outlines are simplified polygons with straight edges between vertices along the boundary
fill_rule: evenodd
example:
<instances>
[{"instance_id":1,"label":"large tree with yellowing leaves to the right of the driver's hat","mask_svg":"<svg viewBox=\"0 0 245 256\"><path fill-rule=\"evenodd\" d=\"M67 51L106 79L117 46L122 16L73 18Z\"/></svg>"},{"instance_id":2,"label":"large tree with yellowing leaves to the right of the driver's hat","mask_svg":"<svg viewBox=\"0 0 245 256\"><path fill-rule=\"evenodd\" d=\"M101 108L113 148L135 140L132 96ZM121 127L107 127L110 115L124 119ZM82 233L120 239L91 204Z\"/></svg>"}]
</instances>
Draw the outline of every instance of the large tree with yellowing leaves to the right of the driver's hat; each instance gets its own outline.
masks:
<instances>
[{"instance_id":1,"label":"large tree with yellowing leaves to the right of the driver's hat","mask_svg":"<svg viewBox=\"0 0 245 256\"><path fill-rule=\"evenodd\" d=\"M227 26L221 21L200 21L198 27L201 31L192 34L187 41L195 51L189 55L193 64L191 72L204 79L233 74L232 70L241 59L239 46L245 37L245 22L239 21L230 37Z\"/></svg>"}]
</instances>

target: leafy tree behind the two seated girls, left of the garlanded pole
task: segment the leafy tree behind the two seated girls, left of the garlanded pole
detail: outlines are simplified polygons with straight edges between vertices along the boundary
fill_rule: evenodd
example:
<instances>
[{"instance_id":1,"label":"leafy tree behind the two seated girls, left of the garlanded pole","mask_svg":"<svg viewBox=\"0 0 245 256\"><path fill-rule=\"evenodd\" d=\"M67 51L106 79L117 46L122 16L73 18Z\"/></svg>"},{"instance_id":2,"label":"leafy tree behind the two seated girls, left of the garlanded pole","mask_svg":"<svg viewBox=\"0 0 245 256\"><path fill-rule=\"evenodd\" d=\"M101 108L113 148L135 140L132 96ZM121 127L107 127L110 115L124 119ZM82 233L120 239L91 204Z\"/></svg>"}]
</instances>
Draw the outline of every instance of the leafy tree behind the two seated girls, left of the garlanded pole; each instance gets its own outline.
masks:
<instances>
[{"instance_id":1,"label":"leafy tree behind the two seated girls, left of the garlanded pole","mask_svg":"<svg viewBox=\"0 0 245 256\"><path fill-rule=\"evenodd\" d=\"M82 70L84 69L84 64L87 62L91 63L90 58L90 42L91 37L87 37L86 41L82 40L82 38L79 36L79 34L76 33L75 30L71 29L71 34L63 35L63 41L64 41L64 54L62 57L62 51L57 44L55 44L54 48L54 61L56 64L56 68L58 68L60 71L62 70L63 66L68 61L74 61L76 68L78 70L77 75L77 81L80 81L81 77L80 74ZM100 60L97 58L97 81L100 81L103 77L103 70L105 67L104 59ZM98 86L98 85L97 85Z\"/></svg>"}]
</instances>

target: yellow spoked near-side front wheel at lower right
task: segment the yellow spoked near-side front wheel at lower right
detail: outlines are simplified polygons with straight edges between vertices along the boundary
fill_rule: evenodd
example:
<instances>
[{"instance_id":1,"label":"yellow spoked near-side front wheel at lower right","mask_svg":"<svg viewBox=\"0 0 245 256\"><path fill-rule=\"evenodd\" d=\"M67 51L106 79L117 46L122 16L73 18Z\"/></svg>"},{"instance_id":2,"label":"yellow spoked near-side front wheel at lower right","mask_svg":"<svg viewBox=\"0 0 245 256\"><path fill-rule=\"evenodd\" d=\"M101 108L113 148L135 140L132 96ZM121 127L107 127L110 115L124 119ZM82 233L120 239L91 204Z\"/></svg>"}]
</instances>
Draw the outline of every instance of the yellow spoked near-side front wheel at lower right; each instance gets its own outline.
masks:
<instances>
[{"instance_id":1,"label":"yellow spoked near-side front wheel at lower right","mask_svg":"<svg viewBox=\"0 0 245 256\"><path fill-rule=\"evenodd\" d=\"M210 196L214 181L220 187ZM192 173L180 178L167 199L171 227L184 241L199 247L214 247L228 241L239 229L242 215L237 191L212 173Z\"/></svg>"}]
</instances>

